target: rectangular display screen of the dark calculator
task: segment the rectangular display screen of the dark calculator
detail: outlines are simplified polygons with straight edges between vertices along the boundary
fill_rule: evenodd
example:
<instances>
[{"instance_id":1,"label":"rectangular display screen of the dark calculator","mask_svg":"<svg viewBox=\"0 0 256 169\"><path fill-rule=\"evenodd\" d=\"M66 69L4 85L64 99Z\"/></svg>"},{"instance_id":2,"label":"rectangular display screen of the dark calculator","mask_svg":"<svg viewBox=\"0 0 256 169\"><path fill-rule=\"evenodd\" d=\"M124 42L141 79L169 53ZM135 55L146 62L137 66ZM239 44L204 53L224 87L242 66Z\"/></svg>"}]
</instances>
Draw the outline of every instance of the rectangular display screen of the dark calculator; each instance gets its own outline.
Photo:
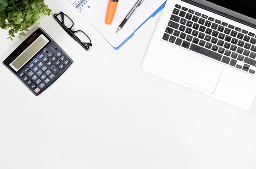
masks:
<instances>
[{"instance_id":1,"label":"rectangular display screen of the dark calculator","mask_svg":"<svg viewBox=\"0 0 256 169\"><path fill-rule=\"evenodd\" d=\"M37 54L49 40L41 34L26 50L24 50L11 64L10 66L16 72L24 66L35 54Z\"/></svg>"}]
</instances>

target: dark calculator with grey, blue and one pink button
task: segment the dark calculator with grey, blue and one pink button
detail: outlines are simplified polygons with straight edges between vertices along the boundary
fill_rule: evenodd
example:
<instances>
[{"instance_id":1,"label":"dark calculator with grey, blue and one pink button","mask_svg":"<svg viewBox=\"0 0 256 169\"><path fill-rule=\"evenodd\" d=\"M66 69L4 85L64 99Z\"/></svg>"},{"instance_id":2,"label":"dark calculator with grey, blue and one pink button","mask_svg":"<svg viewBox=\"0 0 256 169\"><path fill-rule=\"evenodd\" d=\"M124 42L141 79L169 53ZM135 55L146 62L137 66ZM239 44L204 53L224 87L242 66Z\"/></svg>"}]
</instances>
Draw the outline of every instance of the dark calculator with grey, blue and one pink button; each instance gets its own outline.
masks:
<instances>
[{"instance_id":1,"label":"dark calculator with grey, blue and one pink button","mask_svg":"<svg viewBox=\"0 0 256 169\"><path fill-rule=\"evenodd\" d=\"M36 96L51 86L72 63L73 60L41 28L3 61Z\"/></svg>"}]
</instances>

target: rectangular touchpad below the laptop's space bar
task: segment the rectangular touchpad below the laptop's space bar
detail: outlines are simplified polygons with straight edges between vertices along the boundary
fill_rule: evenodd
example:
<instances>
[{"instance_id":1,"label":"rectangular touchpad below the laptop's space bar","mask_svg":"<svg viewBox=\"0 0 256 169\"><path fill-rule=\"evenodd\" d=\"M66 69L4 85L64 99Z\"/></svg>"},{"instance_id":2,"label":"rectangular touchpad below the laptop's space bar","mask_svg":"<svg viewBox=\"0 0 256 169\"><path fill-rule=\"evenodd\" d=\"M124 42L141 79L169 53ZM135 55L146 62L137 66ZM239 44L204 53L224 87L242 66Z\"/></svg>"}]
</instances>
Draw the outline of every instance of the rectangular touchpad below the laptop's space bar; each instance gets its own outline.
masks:
<instances>
[{"instance_id":1,"label":"rectangular touchpad below the laptop's space bar","mask_svg":"<svg viewBox=\"0 0 256 169\"><path fill-rule=\"evenodd\" d=\"M206 92L214 93L222 71L221 67L188 56L179 80Z\"/></svg>"}]
</instances>

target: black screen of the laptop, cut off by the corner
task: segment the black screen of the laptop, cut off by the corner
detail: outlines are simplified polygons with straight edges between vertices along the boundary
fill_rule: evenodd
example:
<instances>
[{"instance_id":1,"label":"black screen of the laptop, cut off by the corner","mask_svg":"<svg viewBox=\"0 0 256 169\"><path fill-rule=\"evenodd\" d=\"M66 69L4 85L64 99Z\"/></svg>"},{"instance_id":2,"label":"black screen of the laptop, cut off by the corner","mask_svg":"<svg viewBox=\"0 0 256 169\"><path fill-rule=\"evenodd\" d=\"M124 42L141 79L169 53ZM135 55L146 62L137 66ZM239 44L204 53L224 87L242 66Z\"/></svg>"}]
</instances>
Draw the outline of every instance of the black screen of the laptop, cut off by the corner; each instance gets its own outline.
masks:
<instances>
[{"instance_id":1,"label":"black screen of the laptop, cut off by the corner","mask_svg":"<svg viewBox=\"0 0 256 169\"><path fill-rule=\"evenodd\" d=\"M256 25L256 0L192 0Z\"/></svg>"}]
</instances>

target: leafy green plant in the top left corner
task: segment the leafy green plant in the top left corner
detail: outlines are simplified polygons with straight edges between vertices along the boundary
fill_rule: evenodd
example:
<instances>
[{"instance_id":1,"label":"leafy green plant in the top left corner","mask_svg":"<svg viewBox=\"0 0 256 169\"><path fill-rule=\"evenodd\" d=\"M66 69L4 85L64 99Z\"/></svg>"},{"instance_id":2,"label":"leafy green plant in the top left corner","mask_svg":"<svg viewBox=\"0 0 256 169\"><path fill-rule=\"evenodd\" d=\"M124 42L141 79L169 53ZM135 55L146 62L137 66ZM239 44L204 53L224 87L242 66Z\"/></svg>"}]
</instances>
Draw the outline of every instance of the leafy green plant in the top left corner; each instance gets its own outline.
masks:
<instances>
[{"instance_id":1,"label":"leafy green plant in the top left corner","mask_svg":"<svg viewBox=\"0 0 256 169\"><path fill-rule=\"evenodd\" d=\"M20 39L29 27L40 25L40 18L49 16L51 11L44 0L0 0L0 28L9 30L7 39L13 41L18 32Z\"/></svg>"}]
</instances>

